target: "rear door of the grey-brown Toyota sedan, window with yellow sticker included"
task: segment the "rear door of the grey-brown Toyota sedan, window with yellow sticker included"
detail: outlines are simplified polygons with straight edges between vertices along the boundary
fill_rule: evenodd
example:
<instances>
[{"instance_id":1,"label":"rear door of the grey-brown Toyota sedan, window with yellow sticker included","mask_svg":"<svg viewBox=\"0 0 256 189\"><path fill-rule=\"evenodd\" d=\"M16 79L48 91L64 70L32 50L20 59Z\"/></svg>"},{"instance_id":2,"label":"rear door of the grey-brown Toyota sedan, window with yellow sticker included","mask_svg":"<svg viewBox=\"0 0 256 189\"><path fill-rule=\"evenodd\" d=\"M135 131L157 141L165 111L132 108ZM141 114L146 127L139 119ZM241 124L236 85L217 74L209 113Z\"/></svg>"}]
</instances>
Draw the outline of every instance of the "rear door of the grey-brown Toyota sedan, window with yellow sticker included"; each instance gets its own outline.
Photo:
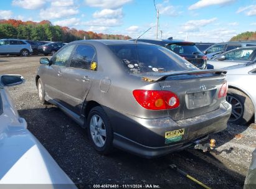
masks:
<instances>
[{"instance_id":1,"label":"rear door of the grey-brown Toyota sedan, window with yellow sticker included","mask_svg":"<svg viewBox=\"0 0 256 189\"><path fill-rule=\"evenodd\" d=\"M92 67L93 65L93 67ZM91 45L77 45L69 68L63 72L64 106L79 114L97 73L97 54Z\"/></svg>"}]
</instances>

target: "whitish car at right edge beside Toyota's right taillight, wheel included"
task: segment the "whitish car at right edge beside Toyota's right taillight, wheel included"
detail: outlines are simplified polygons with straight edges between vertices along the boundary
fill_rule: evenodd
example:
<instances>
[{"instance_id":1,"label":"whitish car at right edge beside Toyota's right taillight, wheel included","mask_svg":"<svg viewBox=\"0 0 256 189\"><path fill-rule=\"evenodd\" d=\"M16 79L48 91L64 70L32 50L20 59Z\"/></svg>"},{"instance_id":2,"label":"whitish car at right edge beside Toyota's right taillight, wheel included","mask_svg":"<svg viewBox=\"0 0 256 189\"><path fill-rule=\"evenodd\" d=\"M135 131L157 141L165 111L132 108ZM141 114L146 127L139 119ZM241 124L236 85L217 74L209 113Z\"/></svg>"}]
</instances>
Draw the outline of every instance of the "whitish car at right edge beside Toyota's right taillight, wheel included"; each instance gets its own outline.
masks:
<instances>
[{"instance_id":1,"label":"whitish car at right edge beside Toyota's right taillight, wheel included","mask_svg":"<svg viewBox=\"0 0 256 189\"><path fill-rule=\"evenodd\" d=\"M252 118L256 122L256 63L234 65L222 70L227 70L227 101L232 105L229 122L244 125Z\"/></svg>"}]
</instances>

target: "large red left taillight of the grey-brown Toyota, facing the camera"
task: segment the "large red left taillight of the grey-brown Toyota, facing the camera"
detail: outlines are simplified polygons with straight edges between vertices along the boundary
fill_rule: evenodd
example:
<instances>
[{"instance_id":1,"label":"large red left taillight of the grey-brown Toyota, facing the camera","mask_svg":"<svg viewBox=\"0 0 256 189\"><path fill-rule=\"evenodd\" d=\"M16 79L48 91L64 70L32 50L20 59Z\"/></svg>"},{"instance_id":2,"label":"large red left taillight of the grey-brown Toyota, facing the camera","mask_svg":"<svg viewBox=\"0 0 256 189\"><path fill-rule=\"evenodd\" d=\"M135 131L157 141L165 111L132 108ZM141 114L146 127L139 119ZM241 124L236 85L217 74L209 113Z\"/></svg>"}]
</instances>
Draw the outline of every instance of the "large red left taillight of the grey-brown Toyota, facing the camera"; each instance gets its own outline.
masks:
<instances>
[{"instance_id":1,"label":"large red left taillight of the grey-brown Toyota, facing the camera","mask_svg":"<svg viewBox=\"0 0 256 189\"><path fill-rule=\"evenodd\" d=\"M133 96L146 109L160 110L179 107L179 98L171 91L134 90Z\"/></svg>"}]
</instances>

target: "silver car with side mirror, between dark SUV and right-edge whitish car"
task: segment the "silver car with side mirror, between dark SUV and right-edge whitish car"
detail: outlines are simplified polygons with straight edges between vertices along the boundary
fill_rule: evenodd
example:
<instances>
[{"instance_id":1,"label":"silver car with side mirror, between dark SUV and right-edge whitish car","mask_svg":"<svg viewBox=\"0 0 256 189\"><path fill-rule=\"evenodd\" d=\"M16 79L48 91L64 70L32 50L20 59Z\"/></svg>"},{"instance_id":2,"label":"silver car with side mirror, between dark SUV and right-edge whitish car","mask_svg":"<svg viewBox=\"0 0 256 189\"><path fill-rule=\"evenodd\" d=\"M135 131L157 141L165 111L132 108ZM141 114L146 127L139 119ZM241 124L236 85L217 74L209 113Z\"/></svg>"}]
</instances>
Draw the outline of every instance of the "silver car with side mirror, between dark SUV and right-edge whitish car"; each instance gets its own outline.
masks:
<instances>
[{"instance_id":1,"label":"silver car with side mirror, between dark SUV and right-edge whitish car","mask_svg":"<svg viewBox=\"0 0 256 189\"><path fill-rule=\"evenodd\" d=\"M230 67L237 64L256 62L256 46L244 47L216 55L216 57L207 61L208 67L212 69L220 69Z\"/></svg>"}]
</instances>

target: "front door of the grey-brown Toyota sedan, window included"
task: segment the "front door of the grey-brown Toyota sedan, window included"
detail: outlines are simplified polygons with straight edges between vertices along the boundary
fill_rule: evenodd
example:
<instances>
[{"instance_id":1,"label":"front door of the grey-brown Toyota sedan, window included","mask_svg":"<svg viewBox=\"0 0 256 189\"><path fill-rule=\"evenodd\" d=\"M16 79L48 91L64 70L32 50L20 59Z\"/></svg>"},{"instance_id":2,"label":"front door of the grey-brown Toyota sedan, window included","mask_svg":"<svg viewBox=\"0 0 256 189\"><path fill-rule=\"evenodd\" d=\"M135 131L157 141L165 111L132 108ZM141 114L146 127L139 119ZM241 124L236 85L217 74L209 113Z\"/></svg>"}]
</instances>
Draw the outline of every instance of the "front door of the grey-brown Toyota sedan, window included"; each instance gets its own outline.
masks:
<instances>
[{"instance_id":1,"label":"front door of the grey-brown Toyota sedan, window included","mask_svg":"<svg viewBox=\"0 0 256 189\"><path fill-rule=\"evenodd\" d=\"M75 48L75 45L70 45L55 53L51 59L51 64L47 66L47 70L41 76L47 96L58 103L60 103L60 97L62 96L62 72L70 61L73 48Z\"/></svg>"}]
</instances>

